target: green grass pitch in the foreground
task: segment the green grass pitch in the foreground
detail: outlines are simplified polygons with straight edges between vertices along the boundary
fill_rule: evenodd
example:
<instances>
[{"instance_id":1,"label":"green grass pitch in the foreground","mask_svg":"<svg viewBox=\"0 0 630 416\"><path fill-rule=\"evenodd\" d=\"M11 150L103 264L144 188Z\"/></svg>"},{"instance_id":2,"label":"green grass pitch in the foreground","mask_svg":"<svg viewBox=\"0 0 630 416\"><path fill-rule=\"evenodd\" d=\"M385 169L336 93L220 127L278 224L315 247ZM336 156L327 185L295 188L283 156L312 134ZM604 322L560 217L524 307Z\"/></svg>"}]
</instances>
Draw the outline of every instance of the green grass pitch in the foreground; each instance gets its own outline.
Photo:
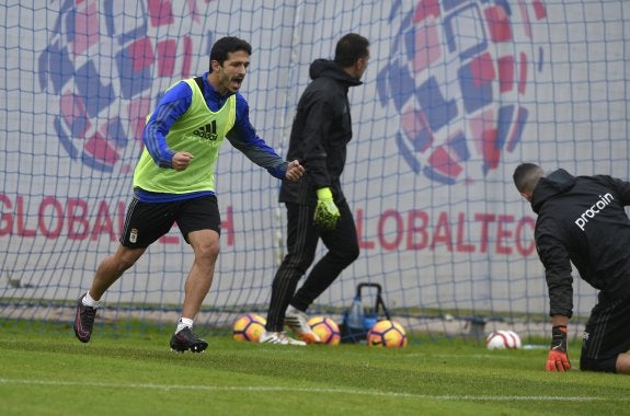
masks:
<instances>
[{"instance_id":1,"label":"green grass pitch in the foreground","mask_svg":"<svg viewBox=\"0 0 630 416\"><path fill-rule=\"evenodd\" d=\"M168 331L96 332L83 345L68 325L45 327L2 324L1 415L630 414L630 378L546 373L545 349L287 347L224 333L203 334L210 346L193 355L171 351Z\"/></svg>"}]
</instances>

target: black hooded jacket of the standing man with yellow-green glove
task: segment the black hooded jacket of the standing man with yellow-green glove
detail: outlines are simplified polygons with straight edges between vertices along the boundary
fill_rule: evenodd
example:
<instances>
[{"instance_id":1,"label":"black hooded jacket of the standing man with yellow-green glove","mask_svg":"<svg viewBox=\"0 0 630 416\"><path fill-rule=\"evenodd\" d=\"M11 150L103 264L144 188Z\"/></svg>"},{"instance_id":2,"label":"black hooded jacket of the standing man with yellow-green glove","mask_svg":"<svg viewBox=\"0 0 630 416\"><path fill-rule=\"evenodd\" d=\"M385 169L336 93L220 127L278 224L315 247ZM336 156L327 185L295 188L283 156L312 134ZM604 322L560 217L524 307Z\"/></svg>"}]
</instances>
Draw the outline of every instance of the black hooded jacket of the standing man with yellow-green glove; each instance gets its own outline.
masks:
<instances>
[{"instance_id":1,"label":"black hooded jacket of the standing man with yellow-green glove","mask_svg":"<svg viewBox=\"0 0 630 416\"><path fill-rule=\"evenodd\" d=\"M283 181L280 203L317 204L317 189L329 186L335 201L344 200L341 174L352 139L347 92L362 82L332 60L316 59L309 69L311 83L303 91L294 119L287 160L306 167L298 182Z\"/></svg>"}]
</instances>

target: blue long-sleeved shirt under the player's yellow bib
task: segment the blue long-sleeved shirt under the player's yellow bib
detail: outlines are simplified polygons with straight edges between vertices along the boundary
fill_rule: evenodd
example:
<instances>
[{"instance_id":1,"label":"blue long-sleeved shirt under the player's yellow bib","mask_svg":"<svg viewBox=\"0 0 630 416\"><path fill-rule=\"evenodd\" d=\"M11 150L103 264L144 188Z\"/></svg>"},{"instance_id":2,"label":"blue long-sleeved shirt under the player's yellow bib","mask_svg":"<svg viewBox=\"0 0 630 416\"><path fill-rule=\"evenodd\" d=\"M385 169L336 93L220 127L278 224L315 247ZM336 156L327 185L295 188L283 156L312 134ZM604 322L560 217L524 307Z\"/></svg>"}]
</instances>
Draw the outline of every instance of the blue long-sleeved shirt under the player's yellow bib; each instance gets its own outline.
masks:
<instances>
[{"instance_id":1,"label":"blue long-sleeved shirt under the player's yellow bib","mask_svg":"<svg viewBox=\"0 0 630 416\"><path fill-rule=\"evenodd\" d=\"M204 99L208 108L213 112L218 111L226 104L227 99L234 94L228 93L221 95L208 82L208 72L203 74L204 83ZM227 134L228 141L238 150L240 150L248 159L255 164L265 167L270 174L278 180L284 180L287 170L287 162L285 162L273 148L267 146L261 139L252 124L250 123L250 108L245 99L237 94L237 108L236 120L232 129ZM171 126L191 106L193 92L187 83L177 82L169 89L160 99L156 111L149 117L147 125L142 131L142 141L147 151L160 167L172 169L172 159L175 152L169 148L167 143L167 135ZM213 195L213 193L203 193L204 195ZM181 199L182 197L194 197L202 194L187 195L187 196L164 196L147 193L142 189L136 189L136 196L140 200L146 201L165 201Z\"/></svg>"}]
</instances>

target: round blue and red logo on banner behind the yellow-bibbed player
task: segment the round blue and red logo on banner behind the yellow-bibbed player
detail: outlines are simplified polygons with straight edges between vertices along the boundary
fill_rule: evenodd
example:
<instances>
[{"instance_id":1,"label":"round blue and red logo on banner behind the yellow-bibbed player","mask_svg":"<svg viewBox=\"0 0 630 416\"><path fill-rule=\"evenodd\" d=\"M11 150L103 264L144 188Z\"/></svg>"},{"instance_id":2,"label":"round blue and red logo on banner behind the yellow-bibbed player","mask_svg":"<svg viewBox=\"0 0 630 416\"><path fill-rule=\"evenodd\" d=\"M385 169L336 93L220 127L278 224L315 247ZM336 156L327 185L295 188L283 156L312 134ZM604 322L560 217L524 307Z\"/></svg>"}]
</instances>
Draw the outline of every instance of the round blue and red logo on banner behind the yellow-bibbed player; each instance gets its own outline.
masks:
<instances>
[{"instance_id":1,"label":"round blue and red logo on banner behind the yellow-bibbed player","mask_svg":"<svg viewBox=\"0 0 630 416\"><path fill-rule=\"evenodd\" d=\"M125 150L141 139L154 85L188 77L193 51L190 32L179 35L182 18L170 3L117 4L125 13L114 4L62 1L38 60L42 89L58 99L54 126L61 147L106 172L133 169ZM194 9L183 20L197 20Z\"/></svg>"}]
</instances>

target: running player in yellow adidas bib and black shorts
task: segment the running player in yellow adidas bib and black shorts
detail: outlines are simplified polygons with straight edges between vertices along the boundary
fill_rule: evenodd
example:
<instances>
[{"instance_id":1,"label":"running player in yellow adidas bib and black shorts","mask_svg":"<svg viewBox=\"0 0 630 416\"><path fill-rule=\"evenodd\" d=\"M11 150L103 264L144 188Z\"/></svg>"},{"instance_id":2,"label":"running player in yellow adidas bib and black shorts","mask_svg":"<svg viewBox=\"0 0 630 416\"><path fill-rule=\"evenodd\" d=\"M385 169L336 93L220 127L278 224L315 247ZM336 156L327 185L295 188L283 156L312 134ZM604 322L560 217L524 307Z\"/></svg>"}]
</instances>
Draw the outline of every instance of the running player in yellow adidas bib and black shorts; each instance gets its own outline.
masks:
<instances>
[{"instance_id":1,"label":"running player in yellow adidas bib and black shorts","mask_svg":"<svg viewBox=\"0 0 630 416\"><path fill-rule=\"evenodd\" d=\"M171 86L150 115L121 243L101 262L90 290L77 302L75 334L82 343L90 340L101 297L176 222L195 261L170 346L181 353L207 348L208 343L193 332L193 321L213 284L220 249L215 166L224 139L274 177L298 181L303 174L297 160L285 162L250 124L249 104L239 89L251 53L245 41L218 39L210 51L209 71Z\"/></svg>"}]
</instances>

